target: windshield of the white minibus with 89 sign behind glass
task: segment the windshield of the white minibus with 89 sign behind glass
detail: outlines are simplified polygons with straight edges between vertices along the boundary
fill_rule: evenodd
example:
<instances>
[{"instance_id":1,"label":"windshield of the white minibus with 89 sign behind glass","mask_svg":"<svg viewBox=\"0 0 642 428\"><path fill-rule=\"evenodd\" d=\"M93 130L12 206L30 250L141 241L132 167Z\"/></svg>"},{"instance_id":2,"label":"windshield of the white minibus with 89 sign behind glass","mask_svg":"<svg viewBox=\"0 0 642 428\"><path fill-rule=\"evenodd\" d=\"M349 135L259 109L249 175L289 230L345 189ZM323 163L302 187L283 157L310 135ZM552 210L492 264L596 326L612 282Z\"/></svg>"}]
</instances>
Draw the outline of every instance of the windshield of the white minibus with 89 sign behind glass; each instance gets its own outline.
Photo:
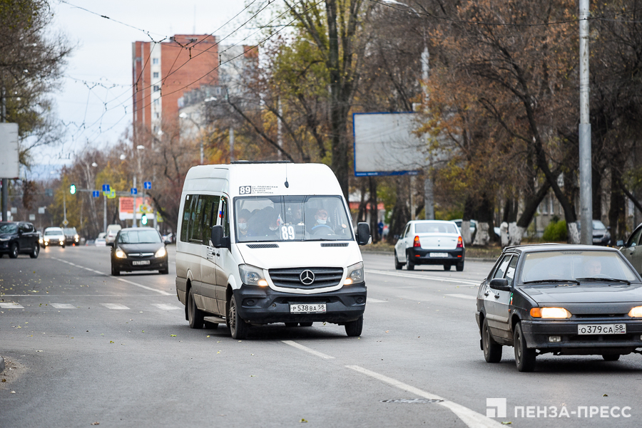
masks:
<instances>
[{"instance_id":1,"label":"windshield of the white minibus with 89 sign behind glass","mask_svg":"<svg viewBox=\"0 0 642 428\"><path fill-rule=\"evenodd\" d=\"M338 196L236 197L237 242L352 241Z\"/></svg>"}]
</instances>

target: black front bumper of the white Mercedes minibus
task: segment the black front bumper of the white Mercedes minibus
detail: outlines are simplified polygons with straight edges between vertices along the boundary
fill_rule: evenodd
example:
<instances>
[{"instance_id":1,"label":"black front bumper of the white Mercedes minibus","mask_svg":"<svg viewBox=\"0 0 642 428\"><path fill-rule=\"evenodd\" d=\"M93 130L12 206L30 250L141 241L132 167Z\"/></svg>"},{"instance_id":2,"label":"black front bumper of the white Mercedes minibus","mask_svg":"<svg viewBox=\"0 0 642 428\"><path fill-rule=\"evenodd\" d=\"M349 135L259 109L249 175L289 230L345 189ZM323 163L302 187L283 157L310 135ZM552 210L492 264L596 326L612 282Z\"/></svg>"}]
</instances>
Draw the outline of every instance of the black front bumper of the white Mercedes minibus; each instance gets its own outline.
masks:
<instances>
[{"instance_id":1,"label":"black front bumper of the white Mercedes minibus","mask_svg":"<svg viewBox=\"0 0 642 428\"><path fill-rule=\"evenodd\" d=\"M337 291L295 294L269 287L242 286L233 291L240 303L238 314L253 324L326 322L344 324L357 320L365 311L365 283L343 286ZM325 303L325 313L292 313L297 304Z\"/></svg>"}]
</instances>

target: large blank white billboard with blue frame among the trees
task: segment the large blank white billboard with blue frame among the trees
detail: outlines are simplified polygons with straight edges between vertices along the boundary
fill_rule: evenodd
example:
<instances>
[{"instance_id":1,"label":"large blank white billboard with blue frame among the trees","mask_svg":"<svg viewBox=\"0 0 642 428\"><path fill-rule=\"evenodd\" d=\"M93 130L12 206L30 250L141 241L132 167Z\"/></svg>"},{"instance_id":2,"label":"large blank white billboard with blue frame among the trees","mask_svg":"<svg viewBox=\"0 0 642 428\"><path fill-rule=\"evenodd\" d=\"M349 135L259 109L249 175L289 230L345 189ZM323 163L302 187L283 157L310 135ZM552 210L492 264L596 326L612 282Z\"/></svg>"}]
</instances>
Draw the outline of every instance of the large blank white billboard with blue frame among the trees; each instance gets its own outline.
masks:
<instances>
[{"instance_id":1,"label":"large blank white billboard with blue frame among the trees","mask_svg":"<svg viewBox=\"0 0 642 428\"><path fill-rule=\"evenodd\" d=\"M353 113L355 175L417 174L427 166L427 140L414 131L417 113Z\"/></svg>"}]
</instances>

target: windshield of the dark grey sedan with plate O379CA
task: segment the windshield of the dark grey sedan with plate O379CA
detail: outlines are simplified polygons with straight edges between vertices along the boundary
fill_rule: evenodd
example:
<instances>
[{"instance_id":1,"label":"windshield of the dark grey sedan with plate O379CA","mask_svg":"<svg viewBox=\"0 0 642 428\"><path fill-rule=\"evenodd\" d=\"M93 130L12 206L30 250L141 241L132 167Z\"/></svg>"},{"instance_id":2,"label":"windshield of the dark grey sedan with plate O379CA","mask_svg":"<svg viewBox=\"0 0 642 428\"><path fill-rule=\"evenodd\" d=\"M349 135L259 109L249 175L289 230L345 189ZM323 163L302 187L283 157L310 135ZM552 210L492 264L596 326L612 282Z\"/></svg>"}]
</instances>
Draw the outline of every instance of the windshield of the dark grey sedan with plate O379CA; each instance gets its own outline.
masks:
<instances>
[{"instance_id":1,"label":"windshield of the dark grey sedan with plate O379CA","mask_svg":"<svg viewBox=\"0 0 642 428\"><path fill-rule=\"evenodd\" d=\"M542 251L524 256L522 283L549 281L638 282L636 273L611 251Z\"/></svg>"}]
</instances>

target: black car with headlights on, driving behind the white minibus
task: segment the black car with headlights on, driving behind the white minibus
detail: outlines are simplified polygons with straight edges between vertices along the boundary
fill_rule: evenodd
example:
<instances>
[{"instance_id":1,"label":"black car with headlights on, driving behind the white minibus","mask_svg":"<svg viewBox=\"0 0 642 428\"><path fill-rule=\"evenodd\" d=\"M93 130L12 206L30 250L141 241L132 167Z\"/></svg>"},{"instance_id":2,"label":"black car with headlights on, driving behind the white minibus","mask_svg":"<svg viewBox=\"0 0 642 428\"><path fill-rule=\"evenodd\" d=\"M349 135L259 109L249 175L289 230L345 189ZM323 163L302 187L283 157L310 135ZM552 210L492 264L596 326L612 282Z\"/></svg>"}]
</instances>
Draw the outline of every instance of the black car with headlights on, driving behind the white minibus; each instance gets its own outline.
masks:
<instances>
[{"instance_id":1,"label":"black car with headlights on, driving behind the white minibus","mask_svg":"<svg viewBox=\"0 0 642 428\"><path fill-rule=\"evenodd\" d=\"M168 274L167 249L161 234L151 227L121 229L111 249L111 274L121 272L159 271Z\"/></svg>"}]
</instances>

